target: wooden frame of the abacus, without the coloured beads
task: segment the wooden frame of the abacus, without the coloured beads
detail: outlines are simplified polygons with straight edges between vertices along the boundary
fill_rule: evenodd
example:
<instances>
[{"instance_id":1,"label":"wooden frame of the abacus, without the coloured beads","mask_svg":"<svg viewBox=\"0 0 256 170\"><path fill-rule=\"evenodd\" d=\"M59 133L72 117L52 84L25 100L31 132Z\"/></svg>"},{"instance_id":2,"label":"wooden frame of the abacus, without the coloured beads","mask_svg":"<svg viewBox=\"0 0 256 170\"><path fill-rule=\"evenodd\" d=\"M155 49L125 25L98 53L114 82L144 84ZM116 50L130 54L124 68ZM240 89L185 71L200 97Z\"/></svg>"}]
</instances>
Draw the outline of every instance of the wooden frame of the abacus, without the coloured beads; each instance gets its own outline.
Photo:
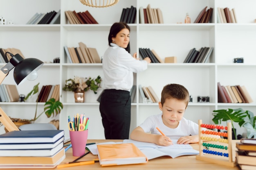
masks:
<instances>
[{"instance_id":1,"label":"wooden frame of the abacus, without the coloured beads","mask_svg":"<svg viewBox=\"0 0 256 170\"><path fill-rule=\"evenodd\" d=\"M227 145L228 145L228 157L229 159L223 159L223 158L217 158L217 157L211 157L208 156L209 154L203 154L203 139L202 136L204 136L202 134L202 120L198 120L198 126L199 126L199 155L196 155L196 159L198 160L202 160L202 161L208 161L211 163L217 163L220 165L225 165L225 166L230 166L230 167L235 167L236 166L236 162L232 160L232 132L231 132L231 122L227 123Z\"/></svg>"}]
</instances>

